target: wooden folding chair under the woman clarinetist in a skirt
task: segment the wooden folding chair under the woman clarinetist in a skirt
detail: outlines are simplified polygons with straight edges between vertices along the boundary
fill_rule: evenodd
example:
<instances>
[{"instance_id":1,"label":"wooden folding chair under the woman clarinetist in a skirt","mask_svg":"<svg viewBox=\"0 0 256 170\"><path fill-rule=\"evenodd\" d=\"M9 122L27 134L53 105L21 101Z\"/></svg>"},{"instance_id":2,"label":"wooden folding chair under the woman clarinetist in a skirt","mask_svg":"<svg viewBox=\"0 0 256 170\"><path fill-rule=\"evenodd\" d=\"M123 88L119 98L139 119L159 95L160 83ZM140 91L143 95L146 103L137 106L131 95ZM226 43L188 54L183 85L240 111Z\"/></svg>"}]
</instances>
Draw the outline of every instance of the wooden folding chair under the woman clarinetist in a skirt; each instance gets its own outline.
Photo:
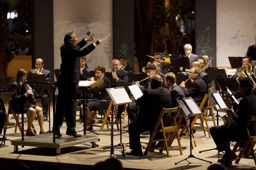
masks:
<instances>
[{"instance_id":1,"label":"wooden folding chair under the woman clarinetist in a skirt","mask_svg":"<svg viewBox=\"0 0 256 170\"><path fill-rule=\"evenodd\" d=\"M5 134L6 134L6 130L7 129L10 129L10 128L15 128L14 129L14 132L16 133L17 132L17 127L20 129L20 133L22 131L22 128L21 128L21 125L20 125L20 121L19 121L19 117L20 117L20 114L21 113L15 113L13 110L12 110L12 107L11 107L11 103L10 103L10 100L8 101L8 111L7 111L7 115L6 115L6 122L5 122ZM9 115L12 114L15 121L16 121L16 124L15 125L12 125L12 126L7 126L8 124L8 119L9 119ZM27 114L26 114L27 115ZM28 115L27 115L28 116ZM24 123L28 122L28 120L25 120ZM34 133L36 133L36 129L35 129L35 126L34 124L32 123L31 125L31 130L34 131ZM24 128L24 132L27 131L27 129Z\"/></svg>"}]
</instances>

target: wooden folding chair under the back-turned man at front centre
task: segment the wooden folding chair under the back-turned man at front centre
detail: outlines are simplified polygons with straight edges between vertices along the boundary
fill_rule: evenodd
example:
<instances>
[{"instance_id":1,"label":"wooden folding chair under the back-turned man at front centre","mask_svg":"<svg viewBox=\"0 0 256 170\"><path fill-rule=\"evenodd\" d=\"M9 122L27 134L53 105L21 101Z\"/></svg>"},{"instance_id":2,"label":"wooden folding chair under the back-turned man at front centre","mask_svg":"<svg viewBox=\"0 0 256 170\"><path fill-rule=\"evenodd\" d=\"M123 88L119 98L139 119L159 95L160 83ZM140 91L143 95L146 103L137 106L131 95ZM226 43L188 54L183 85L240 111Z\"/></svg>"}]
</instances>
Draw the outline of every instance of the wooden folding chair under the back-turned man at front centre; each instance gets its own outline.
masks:
<instances>
[{"instance_id":1,"label":"wooden folding chair under the back-turned man at front centre","mask_svg":"<svg viewBox=\"0 0 256 170\"><path fill-rule=\"evenodd\" d=\"M177 117L179 111L180 111L180 106L175 107L175 108L170 108L170 109L162 108L162 110L161 110L161 112L159 114L159 117L158 117L158 119L156 121L155 128L154 128L152 134L150 135L150 139L149 139L147 148L146 148L146 150L144 152L144 155L147 155L148 151L155 150L155 149L160 149L159 152L162 153L164 148L166 149L166 154L167 154L168 158L170 157L169 150L179 149L180 150L180 155L182 155L182 148L181 148L180 138L179 137L177 138L179 146L173 147L173 148L169 148L168 144L167 144L167 139L168 139L170 133L175 133L177 136L179 134L178 128L177 128L177 123L176 123L176 117ZM175 112L175 114L174 114L175 116L174 116L174 119L173 119L172 126L164 127L164 123L163 123L163 119L162 119L163 115L164 114L173 113L173 112ZM159 127L160 127L160 129L159 129ZM156 136L156 132L162 133L163 138L154 139L155 136ZM151 148L151 144L153 142L159 142L159 141L164 141L161 147L152 147Z\"/></svg>"}]
</instances>

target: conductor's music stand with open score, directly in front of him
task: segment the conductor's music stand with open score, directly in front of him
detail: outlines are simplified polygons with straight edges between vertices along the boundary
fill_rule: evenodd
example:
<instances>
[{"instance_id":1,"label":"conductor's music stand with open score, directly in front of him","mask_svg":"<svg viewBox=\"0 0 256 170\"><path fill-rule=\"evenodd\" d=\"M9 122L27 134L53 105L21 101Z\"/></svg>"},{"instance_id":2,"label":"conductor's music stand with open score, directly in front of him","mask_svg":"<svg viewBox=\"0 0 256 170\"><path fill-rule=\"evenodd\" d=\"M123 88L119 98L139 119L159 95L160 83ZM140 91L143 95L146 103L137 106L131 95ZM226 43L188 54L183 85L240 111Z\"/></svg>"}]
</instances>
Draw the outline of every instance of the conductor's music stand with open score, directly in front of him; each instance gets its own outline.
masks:
<instances>
[{"instance_id":1,"label":"conductor's music stand with open score, directly in front of him","mask_svg":"<svg viewBox=\"0 0 256 170\"><path fill-rule=\"evenodd\" d=\"M90 85L86 85L86 86L78 86L78 89L82 91L83 94L83 112L84 112L84 135L86 135L86 122L87 122L87 107L88 107L88 96L89 96L89 90L93 89L94 87L97 87L98 85L102 84L104 82L103 78L100 78L98 81L96 82L92 82L92 84ZM99 133L96 133L92 130L89 130L90 132L93 132L97 135L99 135Z\"/></svg>"}]
</instances>

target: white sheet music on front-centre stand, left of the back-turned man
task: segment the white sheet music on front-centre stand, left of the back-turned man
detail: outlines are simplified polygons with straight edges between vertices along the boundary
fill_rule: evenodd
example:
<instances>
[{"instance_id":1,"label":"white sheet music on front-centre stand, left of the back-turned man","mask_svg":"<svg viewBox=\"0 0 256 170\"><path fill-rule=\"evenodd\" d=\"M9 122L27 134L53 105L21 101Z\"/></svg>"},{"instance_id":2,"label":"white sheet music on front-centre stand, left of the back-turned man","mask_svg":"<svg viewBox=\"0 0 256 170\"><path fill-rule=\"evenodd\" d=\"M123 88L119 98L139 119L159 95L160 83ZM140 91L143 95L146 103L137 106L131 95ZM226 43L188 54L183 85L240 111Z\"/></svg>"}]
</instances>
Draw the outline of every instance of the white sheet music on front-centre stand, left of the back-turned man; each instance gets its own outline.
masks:
<instances>
[{"instance_id":1,"label":"white sheet music on front-centre stand, left of the back-turned man","mask_svg":"<svg viewBox=\"0 0 256 170\"><path fill-rule=\"evenodd\" d=\"M129 98L124 88L120 88L120 89L108 88L106 90L109 96L111 97L111 99L114 101L115 105L132 103L132 100Z\"/></svg>"}]
</instances>

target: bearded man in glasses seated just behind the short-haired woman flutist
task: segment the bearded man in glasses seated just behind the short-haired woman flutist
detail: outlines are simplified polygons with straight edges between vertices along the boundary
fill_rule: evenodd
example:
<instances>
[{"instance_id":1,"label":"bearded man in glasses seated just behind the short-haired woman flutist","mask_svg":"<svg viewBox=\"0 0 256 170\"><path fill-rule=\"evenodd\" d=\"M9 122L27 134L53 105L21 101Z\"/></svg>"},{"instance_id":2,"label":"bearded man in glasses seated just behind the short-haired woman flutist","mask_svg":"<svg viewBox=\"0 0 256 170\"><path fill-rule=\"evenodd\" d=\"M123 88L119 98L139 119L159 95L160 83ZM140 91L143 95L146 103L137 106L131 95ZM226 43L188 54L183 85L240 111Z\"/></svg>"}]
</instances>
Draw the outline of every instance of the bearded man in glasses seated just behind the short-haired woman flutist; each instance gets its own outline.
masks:
<instances>
[{"instance_id":1,"label":"bearded man in glasses seated just behind the short-haired woman flutist","mask_svg":"<svg viewBox=\"0 0 256 170\"><path fill-rule=\"evenodd\" d=\"M116 81L129 82L129 78L127 76L128 71L120 69L120 66L121 66L121 63L118 59L114 59L112 61L112 68L113 68L112 76L113 76L114 82Z\"/></svg>"}]
</instances>

